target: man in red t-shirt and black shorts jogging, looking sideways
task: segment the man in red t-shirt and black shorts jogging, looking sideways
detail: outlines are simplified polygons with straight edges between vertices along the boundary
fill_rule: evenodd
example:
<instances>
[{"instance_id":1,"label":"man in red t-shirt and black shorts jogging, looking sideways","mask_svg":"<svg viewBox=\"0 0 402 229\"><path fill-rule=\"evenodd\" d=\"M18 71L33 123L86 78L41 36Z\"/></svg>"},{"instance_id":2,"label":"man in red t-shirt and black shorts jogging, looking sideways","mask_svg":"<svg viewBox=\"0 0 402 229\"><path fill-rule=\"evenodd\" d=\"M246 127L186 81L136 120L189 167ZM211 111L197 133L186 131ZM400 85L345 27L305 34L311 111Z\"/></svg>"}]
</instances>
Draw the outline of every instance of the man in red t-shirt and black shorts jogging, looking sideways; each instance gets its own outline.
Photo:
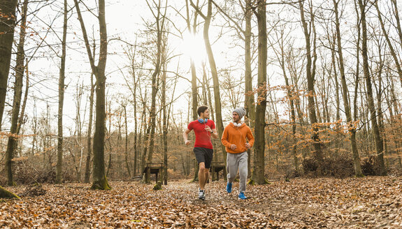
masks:
<instances>
[{"instance_id":1,"label":"man in red t-shirt and black shorts jogging, looking sideways","mask_svg":"<svg viewBox=\"0 0 402 229\"><path fill-rule=\"evenodd\" d=\"M199 163L199 199L205 200L205 185L209 178L210 163L213 158L213 146L210 137L217 139L215 122L209 119L208 107L203 105L197 109L199 119L192 121L183 133L185 145L190 144L189 133L194 130L196 141L194 154Z\"/></svg>"}]
</instances>

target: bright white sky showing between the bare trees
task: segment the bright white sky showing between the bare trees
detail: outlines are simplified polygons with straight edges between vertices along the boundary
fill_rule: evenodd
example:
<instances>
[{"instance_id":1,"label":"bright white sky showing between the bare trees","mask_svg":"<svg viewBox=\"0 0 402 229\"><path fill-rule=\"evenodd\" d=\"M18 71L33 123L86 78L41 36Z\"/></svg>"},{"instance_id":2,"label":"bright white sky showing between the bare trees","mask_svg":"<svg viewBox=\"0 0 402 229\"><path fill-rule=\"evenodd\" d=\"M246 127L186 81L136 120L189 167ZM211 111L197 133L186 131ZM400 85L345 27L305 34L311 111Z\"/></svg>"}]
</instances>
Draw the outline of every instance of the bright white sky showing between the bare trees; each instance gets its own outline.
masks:
<instances>
[{"instance_id":1,"label":"bright white sky showing between the bare trees","mask_svg":"<svg viewBox=\"0 0 402 229\"><path fill-rule=\"evenodd\" d=\"M91 5L94 4L94 0L88 0L85 1L85 3ZM152 14L150 13L150 9L148 8L145 0L107 0L106 1L106 23L107 23L107 28L108 28L108 38L110 42L108 43L108 61L107 61L107 69L106 69L106 74L108 75L107 81L109 83L108 85L108 98L113 99L113 101L116 101L117 94L123 94L129 96L130 93L129 91L123 87L122 85L125 84L124 78L122 77L122 73L120 73L119 68L123 69L124 74L128 75L127 71L124 71L124 66L127 66L129 63L126 54L124 54L125 48L127 45L119 40L113 40L114 38L121 38L122 40L127 41L128 43L135 43L136 37L141 36L143 34L143 31L145 30L144 26L144 21L150 21L153 20ZM220 1L220 3L223 3L224 1ZM73 1L69 0L70 7L73 6ZM330 4L330 3L328 3ZM174 23L175 27L179 28L181 31L185 31L185 21L176 13L173 8L176 8L182 12L183 15L185 15L185 1L169 1L169 7L168 7L168 18L171 19L171 22ZM57 10L62 6L62 0L58 0L57 3L53 4L51 7L46 6L46 8L43 8L40 10L40 13L38 14L38 18L34 18L31 16L29 20L31 21L30 26L35 29L35 31L39 31L39 35L43 38L45 36L45 30L48 27L45 25L45 23L50 24L52 22L52 19L57 15ZM81 10L84 10L84 6L81 6ZM36 8L36 6L32 6L32 8ZM272 24L273 20L278 20L279 16L277 15L277 11L280 11L280 8L283 6L279 7L273 7L270 6L268 10L268 27L270 27L270 23ZM31 9L32 9L31 8ZM192 10L192 8L190 8ZM216 12L216 8L213 8L214 12ZM354 10L352 8L347 8L347 10ZM352 47L350 43L352 43L352 40L354 39L354 36L352 34L352 29L354 27L354 24L351 23L353 21L353 12L350 11L349 13L345 13L345 15L349 15L350 18L347 18L343 20L342 24L342 31L343 34L347 34L348 36L344 36L345 40L344 43L346 45L349 45L349 47ZM203 12L206 12L206 8L203 9ZM347 12L347 11L346 11ZM294 8L287 8L287 10L284 11L284 13L287 16L288 21L292 21L292 27L288 25L287 29L288 31L291 31L292 33L292 43L294 47L304 47L304 40L303 40L303 34L301 34L301 27L298 22L299 15L297 11ZM94 34L96 36L96 29L97 29L97 21L94 15L91 15L90 13L84 13L84 19L85 19L85 25L87 27L87 32L90 37L92 37L92 28L94 28ZM254 17L253 17L254 19ZM199 20L202 22L203 20L201 17L199 17ZM239 80L241 76L244 74L244 68L243 68L243 49L239 46L241 45L241 41L238 41L237 46L234 43L234 40L238 40L237 38L234 37L234 32L231 31L229 33L224 33L222 37L217 39L219 36L220 32L227 32L227 30L222 29L222 27L217 26L217 25L223 25L224 21L222 20L222 17L216 15L213 18L213 22L210 27L210 40L211 43L213 43L213 52L215 56L215 61L217 64L217 70L222 71L224 68L231 68L231 78L236 80ZM320 29L320 24L317 25L317 29ZM61 36L60 34L62 33L62 17L58 17L57 20L52 24L52 28L57 31L57 34ZM201 23L199 26L199 31L202 33L203 29L203 24ZM322 28L320 29L322 30ZM18 29L16 30L18 31ZM200 33L200 34L201 34ZM253 29L254 35L257 34L257 29ZM189 72L189 53L195 53L196 56L194 57L196 59L196 63L200 63L203 59L206 59L206 54L205 50L203 47L203 39L202 35L196 36L196 45L191 45L189 42L189 39L187 39L189 36L185 36L185 40L181 40L177 36L173 36L173 34L178 34L178 31L175 30L174 27L171 26L171 36L169 37L169 44L171 47L171 50L173 50L172 55L183 53L182 56L175 57L171 63L168 66L169 71L176 71L176 68L178 64L180 64L180 69L179 69L179 74L182 75L182 77L186 77L188 80L191 79L191 74ZM76 108L75 108L75 99L74 99L74 94L76 94L76 84L81 84L83 83L86 87L86 89L89 89L89 77L90 77L90 66L87 61L87 53L85 50L85 46L83 45L82 42L82 31L80 29L80 25L77 19L76 15L76 10L74 10L74 15L70 17L69 19L69 35L68 35L68 40L69 40L69 47L67 50L67 61L66 61L66 84L68 84L68 87L66 89L66 97L65 97L65 105L64 105L64 126L65 132L64 135L69 134L69 128L74 128L74 123L75 123L75 117L76 117ZM273 37L270 37L271 40L275 42L275 39ZM143 38L142 38L143 39ZM55 38L54 35L52 35L52 32L48 34L46 37L46 42L48 44L58 44L59 41ZM141 38L138 38L138 40L141 40ZM32 47L36 47L38 45L38 42L40 42L41 39L34 35L34 36L29 36L29 39L27 40L27 47L31 47L29 51L27 51L28 54L33 54L34 49ZM53 45L52 46L55 52L58 54L61 53L59 50L58 45ZM347 47L347 46L346 46ZM349 48L348 47L348 48ZM28 48L27 48L28 50ZM351 49L352 50L352 49ZM148 54L152 55L152 50L147 50ZM29 64L29 71L31 72L31 84L33 86L31 87L30 95L33 95L29 98L28 101L28 106L27 106L27 115L28 117L33 117L34 112L33 112L33 104L34 104L34 98L36 99L36 105L38 105L38 116L41 116L41 114L44 114L43 112L46 111L46 103L50 105L50 114L52 117L52 121L57 121L57 83L58 83L58 75L59 75L59 58L56 57L54 51L52 51L50 48L41 48L36 52L34 55L36 58L31 61ZM352 52L354 52L352 50ZM347 53L350 57L352 57L353 53ZM284 84L282 81L282 72L279 70L278 66L276 66L275 62L273 61L273 58L275 58L275 54L271 50L271 47L268 48L268 77L270 80L271 85L278 85L278 84ZM347 57L345 57L347 59ZM353 57L352 57L353 58ZM352 71L354 68L354 59L347 59L348 66L350 67L350 70ZM208 66L208 61L207 66ZM152 68L152 64L149 63L148 61L148 66L149 68ZM320 60L317 62L317 68L318 71L322 71L320 69ZM253 74L257 74L257 68L256 65L253 65ZM197 75L201 75L202 69L201 69L201 64L197 65ZM320 74L320 73L318 73ZM189 84L188 80L179 80L175 95L174 96L179 96L185 91L191 91L191 85ZM256 80L256 79L254 79ZM13 80L9 82L9 87L12 87L13 85ZM212 85L212 82L211 82ZM255 84L254 84L255 85ZM149 91L148 91L149 92ZM221 94L223 92L221 91ZM171 94L169 94L171 96ZM12 101L12 96L13 96L13 91L9 90L8 91L8 102ZM84 114L87 115L88 109L85 108L85 103L87 103L87 96L89 96L88 91L85 91L85 94L82 97L82 106L81 106L81 115L83 116ZM278 95L277 95L278 96ZM224 99L224 97L222 96ZM187 119L187 107L188 107L188 97L187 95L183 95L177 103L175 103L174 108L175 110L173 113L178 114L180 112L183 113L183 116L176 116L175 118L177 119ZM243 101L243 99L242 99ZM231 114L231 109L229 108L229 103L227 101L222 101L224 103L223 105L223 112L224 112L224 119L229 120L230 119L230 114ZM114 103L117 105L116 103ZM243 104L242 104L243 105ZM7 107L6 109L10 110L10 107ZM129 116L132 115L132 108L130 107L128 112ZM8 118L8 115L6 115ZM84 117L82 117L84 119ZM28 121L27 125L31 125L30 121ZM87 121L87 116L85 117L85 122ZM6 124L7 121L4 121ZM56 125L53 125L54 128L56 128ZM86 126L84 127L83 131L86 130Z\"/></svg>"}]
</instances>

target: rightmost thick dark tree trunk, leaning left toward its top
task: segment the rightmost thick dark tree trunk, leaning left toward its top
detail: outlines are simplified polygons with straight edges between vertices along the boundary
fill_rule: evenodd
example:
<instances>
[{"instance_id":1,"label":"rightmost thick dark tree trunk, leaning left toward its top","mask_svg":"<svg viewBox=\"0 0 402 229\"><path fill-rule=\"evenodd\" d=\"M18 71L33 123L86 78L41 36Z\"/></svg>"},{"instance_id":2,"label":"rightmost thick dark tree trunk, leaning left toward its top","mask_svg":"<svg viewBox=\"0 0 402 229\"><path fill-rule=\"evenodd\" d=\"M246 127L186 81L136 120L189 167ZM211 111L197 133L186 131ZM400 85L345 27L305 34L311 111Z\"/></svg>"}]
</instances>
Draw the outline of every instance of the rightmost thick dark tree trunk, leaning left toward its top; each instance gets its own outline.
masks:
<instances>
[{"instance_id":1,"label":"rightmost thick dark tree trunk, leaning left toward its top","mask_svg":"<svg viewBox=\"0 0 402 229\"><path fill-rule=\"evenodd\" d=\"M358 0L360 13L361 13L361 55L363 57L363 74L366 80L366 95L368 98L368 109L371 116L371 127L373 128L373 135L375 140L375 150L377 151L378 163L380 166L380 175L386 175L384 164L384 147L380 130L377 123L377 114L375 112L375 105L373 99L373 89L371 87L371 75L368 69L368 54L367 54L367 29L366 29L366 4L362 0Z\"/></svg>"}]
</instances>

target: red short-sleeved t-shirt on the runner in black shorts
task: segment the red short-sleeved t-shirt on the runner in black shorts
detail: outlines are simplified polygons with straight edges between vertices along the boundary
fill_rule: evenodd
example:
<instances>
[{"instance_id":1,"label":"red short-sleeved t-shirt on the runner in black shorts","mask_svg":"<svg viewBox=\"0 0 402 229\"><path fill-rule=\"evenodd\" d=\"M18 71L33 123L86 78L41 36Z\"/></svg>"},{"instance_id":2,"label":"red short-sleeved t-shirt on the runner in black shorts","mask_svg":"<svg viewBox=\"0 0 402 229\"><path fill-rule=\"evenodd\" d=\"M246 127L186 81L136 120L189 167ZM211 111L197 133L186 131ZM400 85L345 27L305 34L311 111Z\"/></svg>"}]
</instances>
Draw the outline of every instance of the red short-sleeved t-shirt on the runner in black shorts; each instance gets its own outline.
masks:
<instances>
[{"instance_id":1,"label":"red short-sleeved t-shirt on the runner in black shorts","mask_svg":"<svg viewBox=\"0 0 402 229\"><path fill-rule=\"evenodd\" d=\"M209 126L212 130L215 128L215 122L208 119L206 123L201 124L198 120L195 120L190 122L189 126L187 126L190 131L194 130L194 133L196 135L194 147L213 149L212 142L210 140L210 131L206 131L206 126Z\"/></svg>"}]
</instances>

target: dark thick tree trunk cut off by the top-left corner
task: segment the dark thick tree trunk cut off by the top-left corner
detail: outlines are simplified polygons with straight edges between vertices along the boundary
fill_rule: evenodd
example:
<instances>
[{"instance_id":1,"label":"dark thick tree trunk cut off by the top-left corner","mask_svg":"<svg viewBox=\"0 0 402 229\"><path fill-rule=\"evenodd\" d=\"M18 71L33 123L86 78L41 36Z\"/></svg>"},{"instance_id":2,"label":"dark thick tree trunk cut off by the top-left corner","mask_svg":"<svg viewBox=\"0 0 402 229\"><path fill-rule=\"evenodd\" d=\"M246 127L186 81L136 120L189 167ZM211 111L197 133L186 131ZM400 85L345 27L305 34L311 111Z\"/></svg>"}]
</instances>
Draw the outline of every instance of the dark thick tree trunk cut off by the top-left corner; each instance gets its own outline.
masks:
<instances>
[{"instance_id":1,"label":"dark thick tree trunk cut off by the top-left corner","mask_svg":"<svg viewBox=\"0 0 402 229\"><path fill-rule=\"evenodd\" d=\"M0 1L0 131L6 103L8 73L10 72L11 50L14 41L15 8L17 0Z\"/></svg>"}]
</instances>

